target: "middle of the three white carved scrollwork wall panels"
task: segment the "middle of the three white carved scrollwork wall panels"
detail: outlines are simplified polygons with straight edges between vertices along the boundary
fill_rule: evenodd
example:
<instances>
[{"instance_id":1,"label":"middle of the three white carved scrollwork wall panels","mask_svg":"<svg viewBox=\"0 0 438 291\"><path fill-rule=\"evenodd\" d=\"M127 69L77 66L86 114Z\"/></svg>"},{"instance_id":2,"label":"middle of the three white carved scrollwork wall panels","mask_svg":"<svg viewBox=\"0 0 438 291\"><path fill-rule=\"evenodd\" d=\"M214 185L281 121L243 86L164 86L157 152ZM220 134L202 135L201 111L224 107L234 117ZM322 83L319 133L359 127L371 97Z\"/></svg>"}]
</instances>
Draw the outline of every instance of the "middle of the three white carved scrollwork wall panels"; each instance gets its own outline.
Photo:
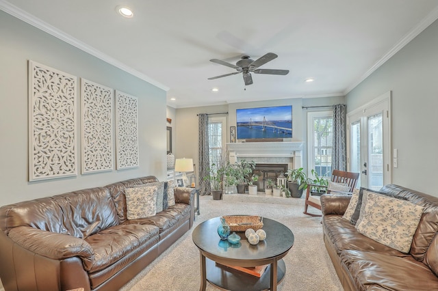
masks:
<instances>
[{"instance_id":1,"label":"middle of the three white carved scrollwork wall panels","mask_svg":"<svg viewBox=\"0 0 438 291\"><path fill-rule=\"evenodd\" d=\"M113 169L114 90L81 79L82 174Z\"/></svg>"}]
</instances>

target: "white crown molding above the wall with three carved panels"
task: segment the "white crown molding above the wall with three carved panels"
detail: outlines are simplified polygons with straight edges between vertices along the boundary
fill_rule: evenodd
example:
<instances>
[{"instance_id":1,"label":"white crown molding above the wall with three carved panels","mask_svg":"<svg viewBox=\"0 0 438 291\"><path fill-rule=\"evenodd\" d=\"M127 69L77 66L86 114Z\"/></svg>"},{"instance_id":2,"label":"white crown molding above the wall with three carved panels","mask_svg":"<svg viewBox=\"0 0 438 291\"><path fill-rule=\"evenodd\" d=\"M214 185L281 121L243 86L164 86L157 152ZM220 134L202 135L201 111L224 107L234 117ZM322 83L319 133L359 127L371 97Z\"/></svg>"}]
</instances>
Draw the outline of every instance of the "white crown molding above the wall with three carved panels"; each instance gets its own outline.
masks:
<instances>
[{"instance_id":1,"label":"white crown molding above the wall with three carved panels","mask_svg":"<svg viewBox=\"0 0 438 291\"><path fill-rule=\"evenodd\" d=\"M102 61L105 61L106 63L115 66L116 68L119 68L120 70L124 70L125 72L135 77L138 77L143 81L151 83L152 85L159 87L159 89L163 89L166 92L170 89L169 87L163 85L162 83L155 81L151 77L146 76L146 74L143 74L142 72L138 72L138 70L134 70L133 68L123 64L121 61L118 61L117 59L114 59L113 57L110 57L109 55L106 55L105 53L96 50L96 48L93 48L92 46L89 46L88 44L85 44L84 42L81 42L80 40L73 38L73 36L64 33L64 31L61 31L60 29L57 29L52 25L49 25L49 23L46 23L42 21L40 18L37 18L25 12L24 10L16 7L15 5L12 5L8 1L0 0L0 10L3 10L8 14L20 20L23 20L25 23L28 23L29 25L32 25L44 32L47 32L51 36L54 36L55 38L58 38L68 44L71 44L72 46L79 48L81 51L89 53L90 55L93 55L94 57L97 57Z\"/></svg>"}]
</instances>

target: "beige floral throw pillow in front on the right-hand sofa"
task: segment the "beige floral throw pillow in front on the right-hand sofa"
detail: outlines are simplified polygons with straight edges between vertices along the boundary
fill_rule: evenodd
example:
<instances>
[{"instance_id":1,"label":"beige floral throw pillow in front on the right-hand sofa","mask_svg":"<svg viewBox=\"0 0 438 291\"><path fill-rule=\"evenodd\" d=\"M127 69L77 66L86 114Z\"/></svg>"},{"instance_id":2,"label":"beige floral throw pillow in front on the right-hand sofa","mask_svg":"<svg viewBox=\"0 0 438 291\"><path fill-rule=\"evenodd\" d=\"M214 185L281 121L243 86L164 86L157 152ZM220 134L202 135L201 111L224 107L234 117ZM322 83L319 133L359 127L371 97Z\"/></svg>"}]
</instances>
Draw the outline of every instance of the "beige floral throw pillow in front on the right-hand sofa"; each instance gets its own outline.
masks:
<instances>
[{"instance_id":1,"label":"beige floral throw pillow in front on the right-hand sofa","mask_svg":"<svg viewBox=\"0 0 438 291\"><path fill-rule=\"evenodd\" d=\"M378 243L409 253L422 214L421 206L365 190L355 227Z\"/></svg>"}]
</instances>

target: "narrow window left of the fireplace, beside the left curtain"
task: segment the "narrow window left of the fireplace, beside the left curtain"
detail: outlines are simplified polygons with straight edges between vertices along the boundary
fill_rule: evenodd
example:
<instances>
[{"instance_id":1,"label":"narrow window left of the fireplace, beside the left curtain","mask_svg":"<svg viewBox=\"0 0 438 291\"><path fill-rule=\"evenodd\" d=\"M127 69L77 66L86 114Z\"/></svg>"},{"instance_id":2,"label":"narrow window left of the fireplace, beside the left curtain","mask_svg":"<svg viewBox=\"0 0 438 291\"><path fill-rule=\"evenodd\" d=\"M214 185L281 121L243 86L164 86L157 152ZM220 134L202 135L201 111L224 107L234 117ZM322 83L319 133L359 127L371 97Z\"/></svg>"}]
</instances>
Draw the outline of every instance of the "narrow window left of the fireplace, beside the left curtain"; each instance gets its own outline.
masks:
<instances>
[{"instance_id":1,"label":"narrow window left of the fireplace, beside the left curtain","mask_svg":"<svg viewBox=\"0 0 438 291\"><path fill-rule=\"evenodd\" d=\"M222 150L225 148L225 117L213 117L208 120L209 159L211 164L220 164ZM223 157L227 158L227 157Z\"/></svg>"}]
</instances>

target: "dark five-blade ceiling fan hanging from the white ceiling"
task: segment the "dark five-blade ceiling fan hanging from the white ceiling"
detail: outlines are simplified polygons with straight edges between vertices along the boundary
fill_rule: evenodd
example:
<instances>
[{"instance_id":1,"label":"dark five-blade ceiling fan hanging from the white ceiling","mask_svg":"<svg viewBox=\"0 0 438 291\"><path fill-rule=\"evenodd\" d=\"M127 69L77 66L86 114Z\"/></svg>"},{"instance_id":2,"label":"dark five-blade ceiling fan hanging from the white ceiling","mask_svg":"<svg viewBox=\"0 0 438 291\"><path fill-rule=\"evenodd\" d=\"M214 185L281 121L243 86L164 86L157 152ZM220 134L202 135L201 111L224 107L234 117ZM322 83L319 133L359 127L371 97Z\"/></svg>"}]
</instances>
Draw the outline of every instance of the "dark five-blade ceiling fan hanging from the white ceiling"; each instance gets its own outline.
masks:
<instances>
[{"instance_id":1,"label":"dark five-blade ceiling fan hanging from the white ceiling","mask_svg":"<svg viewBox=\"0 0 438 291\"><path fill-rule=\"evenodd\" d=\"M233 74L242 73L244 77L245 85L251 85L253 83L253 77L251 77L251 72L254 72L255 74L281 74L281 75L289 74L289 70L259 69L259 66L266 64L268 61L272 61L272 59L275 59L276 57L278 57L278 55L274 53L267 53L266 55L263 55L263 57L259 57L259 59L256 59L254 61L253 59L250 59L248 55L244 55L242 56L242 59L237 61L235 65L227 63L227 61L221 61L220 59L210 59L210 61L216 64L233 68L237 70L237 72L211 77L209 78L209 80L214 80L222 77L231 76Z\"/></svg>"}]
</instances>

